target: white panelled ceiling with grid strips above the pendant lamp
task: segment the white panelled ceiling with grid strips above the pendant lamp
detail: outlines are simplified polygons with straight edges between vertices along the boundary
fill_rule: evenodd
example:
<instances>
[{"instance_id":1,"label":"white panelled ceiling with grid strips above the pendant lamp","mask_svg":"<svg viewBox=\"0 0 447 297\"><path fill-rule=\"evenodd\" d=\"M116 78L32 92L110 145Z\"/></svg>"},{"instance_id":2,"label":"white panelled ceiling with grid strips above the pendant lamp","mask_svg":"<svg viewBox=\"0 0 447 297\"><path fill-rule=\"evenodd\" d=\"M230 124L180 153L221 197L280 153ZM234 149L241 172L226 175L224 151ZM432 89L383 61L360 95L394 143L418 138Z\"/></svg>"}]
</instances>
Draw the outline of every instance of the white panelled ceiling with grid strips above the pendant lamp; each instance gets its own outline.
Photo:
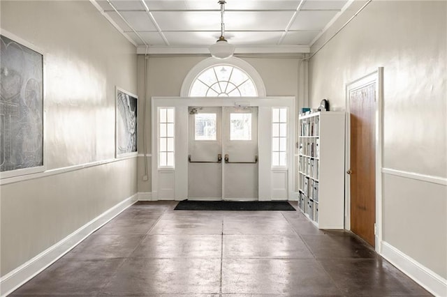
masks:
<instances>
[{"instance_id":1,"label":"white panelled ceiling with grid strips above the pendant lamp","mask_svg":"<svg viewBox=\"0 0 447 297\"><path fill-rule=\"evenodd\" d=\"M90 0L138 52L204 53L220 36L217 0ZM226 0L236 52L309 52L352 0ZM148 47L147 47L148 46Z\"/></svg>"}]
</instances>

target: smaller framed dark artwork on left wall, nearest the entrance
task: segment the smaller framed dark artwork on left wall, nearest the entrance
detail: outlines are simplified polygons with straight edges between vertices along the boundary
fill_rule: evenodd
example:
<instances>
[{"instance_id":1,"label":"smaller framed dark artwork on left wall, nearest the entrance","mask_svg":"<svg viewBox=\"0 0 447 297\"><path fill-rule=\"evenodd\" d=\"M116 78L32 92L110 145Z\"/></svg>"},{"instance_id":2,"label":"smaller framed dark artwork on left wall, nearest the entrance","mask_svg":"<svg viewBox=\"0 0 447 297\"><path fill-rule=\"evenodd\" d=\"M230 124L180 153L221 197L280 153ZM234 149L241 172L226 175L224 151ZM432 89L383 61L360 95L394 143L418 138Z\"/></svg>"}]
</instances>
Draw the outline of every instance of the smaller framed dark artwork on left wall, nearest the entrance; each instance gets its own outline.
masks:
<instances>
[{"instance_id":1,"label":"smaller framed dark artwork on left wall, nearest the entrance","mask_svg":"<svg viewBox=\"0 0 447 297\"><path fill-rule=\"evenodd\" d=\"M115 157L138 154L138 97L116 87Z\"/></svg>"}]
</instances>

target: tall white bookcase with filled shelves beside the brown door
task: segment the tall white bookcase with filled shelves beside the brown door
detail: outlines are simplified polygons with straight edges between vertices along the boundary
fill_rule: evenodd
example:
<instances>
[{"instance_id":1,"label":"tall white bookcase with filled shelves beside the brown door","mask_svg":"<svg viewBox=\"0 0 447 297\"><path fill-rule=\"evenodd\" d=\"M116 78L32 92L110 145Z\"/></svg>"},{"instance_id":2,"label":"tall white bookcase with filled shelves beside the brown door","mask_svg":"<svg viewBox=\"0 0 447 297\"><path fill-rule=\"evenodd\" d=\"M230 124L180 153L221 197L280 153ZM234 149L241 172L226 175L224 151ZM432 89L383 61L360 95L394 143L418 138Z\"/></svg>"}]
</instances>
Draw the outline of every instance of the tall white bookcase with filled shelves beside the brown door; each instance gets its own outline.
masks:
<instances>
[{"instance_id":1,"label":"tall white bookcase with filled shelves beside the brown door","mask_svg":"<svg viewBox=\"0 0 447 297\"><path fill-rule=\"evenodd\" d=\"M344 112L299 117L298 206L319 229L344 229Z\"/></svg>"}]
</instances>

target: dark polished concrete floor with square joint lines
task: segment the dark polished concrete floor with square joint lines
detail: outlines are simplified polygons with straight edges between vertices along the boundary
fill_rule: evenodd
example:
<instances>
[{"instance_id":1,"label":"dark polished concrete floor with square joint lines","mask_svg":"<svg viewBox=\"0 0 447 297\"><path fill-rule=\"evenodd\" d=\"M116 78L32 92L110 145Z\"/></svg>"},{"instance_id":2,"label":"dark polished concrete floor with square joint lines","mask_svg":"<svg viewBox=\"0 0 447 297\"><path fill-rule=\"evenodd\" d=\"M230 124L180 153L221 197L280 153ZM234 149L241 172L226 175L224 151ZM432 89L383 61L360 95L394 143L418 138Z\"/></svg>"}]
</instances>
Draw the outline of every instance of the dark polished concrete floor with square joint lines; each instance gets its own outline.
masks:
<instances>
[{"instance_id":1,"label":"dark polished concrete floor with square joint lines","mask_svg":"<svg viewBox=\"0 0 447 297\"><path fill-rule=\"evenodd\" d=\"M13 295L430 296L356 236L299 211L175 204L134 204Z\"/></svg>"}]
</instances>

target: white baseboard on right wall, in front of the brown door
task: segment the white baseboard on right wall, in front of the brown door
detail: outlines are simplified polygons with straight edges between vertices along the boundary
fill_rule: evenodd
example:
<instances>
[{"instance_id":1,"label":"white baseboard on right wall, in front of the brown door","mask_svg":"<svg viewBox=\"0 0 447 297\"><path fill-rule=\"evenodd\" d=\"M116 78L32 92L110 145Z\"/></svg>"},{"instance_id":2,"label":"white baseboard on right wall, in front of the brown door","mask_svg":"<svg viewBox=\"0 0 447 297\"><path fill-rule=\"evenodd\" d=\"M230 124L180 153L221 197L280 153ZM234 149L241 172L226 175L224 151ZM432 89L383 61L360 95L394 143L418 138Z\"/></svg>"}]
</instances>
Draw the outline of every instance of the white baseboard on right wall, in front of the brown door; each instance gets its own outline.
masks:
<instances>
[{"instance_id":1,"label":"white baseboard on right wall, in front of the brown door","mask_svg":"<svg viewBox=\"0 0 447 297\"><path fill-rule=\"evenodd\" d=\"M418 261L407 256L389 243L382 241L381 256L430 291L434 296L447 296L447 280L437 275Z\"/></svg>"}]
</instances>

